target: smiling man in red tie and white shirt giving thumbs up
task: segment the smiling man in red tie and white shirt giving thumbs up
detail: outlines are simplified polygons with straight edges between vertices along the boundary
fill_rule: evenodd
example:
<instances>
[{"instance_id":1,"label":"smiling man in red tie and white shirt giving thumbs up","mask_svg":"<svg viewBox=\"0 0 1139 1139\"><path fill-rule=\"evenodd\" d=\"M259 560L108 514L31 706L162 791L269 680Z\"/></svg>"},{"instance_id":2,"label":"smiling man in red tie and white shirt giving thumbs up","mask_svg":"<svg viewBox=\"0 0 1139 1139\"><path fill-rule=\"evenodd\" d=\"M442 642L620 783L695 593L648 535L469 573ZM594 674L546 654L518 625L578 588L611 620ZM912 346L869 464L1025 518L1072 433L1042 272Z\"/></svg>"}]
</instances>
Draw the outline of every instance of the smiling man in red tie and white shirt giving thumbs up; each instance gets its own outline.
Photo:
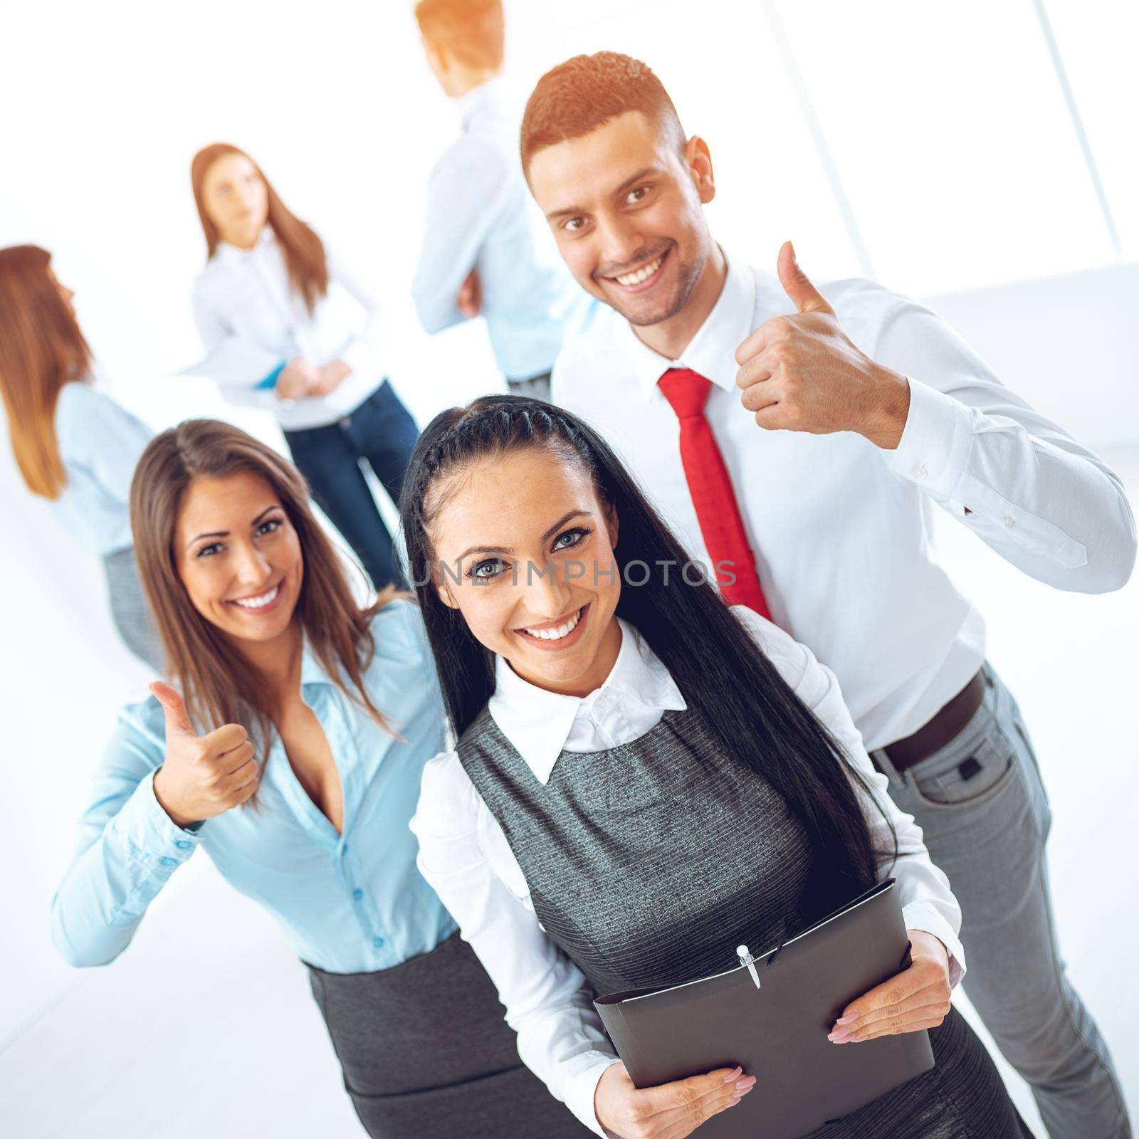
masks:
<instances>
[{"instance_id":1,"label":"smiling man in red tie and white shirt giving thumbs up","mask_svg":"<svg viewBox=\"0 0 1139 1139\"><path fill-rule=\"evenodd\" d=\"M934 506L1059 589L1128 580L1118 478L1003 387L934 313L866 280L730 259L707 144L644 64L544 75L522 159L577 282L613 312L563 351L554 401L624 456L721 591L828 664L964 911L965 988L1054 1139L1130 1136L1064 975L1050 814L984 622L931 549Z\"/></svg>"}]
</instances>

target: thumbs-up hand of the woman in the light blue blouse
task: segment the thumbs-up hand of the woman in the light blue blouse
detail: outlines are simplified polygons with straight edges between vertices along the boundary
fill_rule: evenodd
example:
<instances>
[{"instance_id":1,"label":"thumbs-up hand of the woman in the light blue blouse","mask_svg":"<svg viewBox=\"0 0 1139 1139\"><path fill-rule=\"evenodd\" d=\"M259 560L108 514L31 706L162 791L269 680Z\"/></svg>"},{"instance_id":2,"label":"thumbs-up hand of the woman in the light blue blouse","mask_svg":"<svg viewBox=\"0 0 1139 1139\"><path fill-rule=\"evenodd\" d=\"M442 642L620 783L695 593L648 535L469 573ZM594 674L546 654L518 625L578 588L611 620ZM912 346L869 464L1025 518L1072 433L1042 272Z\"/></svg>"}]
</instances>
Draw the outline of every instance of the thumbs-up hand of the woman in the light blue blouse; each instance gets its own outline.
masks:
<instances>
[{"instance_id":1,"label":"thumbs-up hand of the woman in the light blue blouse","mask_svg":"<svg viewBox=\"0 0 1139 1139\"><path fill-rule=\"evenodd\" d=\"M199 736L170 685L155 681L150 691L166 716L166 762L154 777L154 794L166 814L185 829L244 803L260 775L249 734L227 723Z\"/></svg>"}]
</instances>

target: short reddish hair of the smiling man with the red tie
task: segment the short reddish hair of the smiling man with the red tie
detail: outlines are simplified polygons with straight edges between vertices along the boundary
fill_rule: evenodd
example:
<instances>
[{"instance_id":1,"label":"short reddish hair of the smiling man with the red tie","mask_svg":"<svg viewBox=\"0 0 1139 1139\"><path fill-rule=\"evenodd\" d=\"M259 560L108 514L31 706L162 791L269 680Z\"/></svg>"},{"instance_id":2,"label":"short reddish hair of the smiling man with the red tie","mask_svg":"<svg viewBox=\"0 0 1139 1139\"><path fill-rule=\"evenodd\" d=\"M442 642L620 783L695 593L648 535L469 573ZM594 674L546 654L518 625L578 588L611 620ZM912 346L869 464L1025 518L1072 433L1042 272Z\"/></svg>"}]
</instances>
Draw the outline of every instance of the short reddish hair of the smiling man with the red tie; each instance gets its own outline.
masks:
<instances>
[{"instance_id":1,"label":"short reddish hair of the smiling man with the red tie","mask_svg":"<svg viewBox=\"0 0 1139 1139\"><path fill-rule=\"evenodd\" d=\"M522 118L522 169L548 146L580 139L598 126L639 110L677 148L685 145L680 116L664 84L647 64L616 51L574 56L548 71L534 88Z\"/></svg>"}]
</instances>

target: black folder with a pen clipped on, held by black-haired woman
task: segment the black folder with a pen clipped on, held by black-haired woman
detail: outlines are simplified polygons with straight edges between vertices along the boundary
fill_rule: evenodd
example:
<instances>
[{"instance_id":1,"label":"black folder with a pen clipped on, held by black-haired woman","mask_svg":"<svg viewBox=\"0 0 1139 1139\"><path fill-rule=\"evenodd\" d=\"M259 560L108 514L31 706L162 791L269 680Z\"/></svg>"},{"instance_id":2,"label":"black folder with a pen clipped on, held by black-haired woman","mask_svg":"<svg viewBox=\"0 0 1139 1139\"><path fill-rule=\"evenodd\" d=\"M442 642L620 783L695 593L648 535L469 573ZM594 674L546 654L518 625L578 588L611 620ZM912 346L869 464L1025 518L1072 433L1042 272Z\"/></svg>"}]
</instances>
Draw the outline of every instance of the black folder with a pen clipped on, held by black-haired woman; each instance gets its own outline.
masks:
<instances>
[{"instance_id":1,"label":"black folder with a pen clipped on, held by black-haired woman","mask_svg":"<svg viewBox=\"0 0 1139 1139\"><path fill-rule=\"evenodd\" d=\"M739 947L739 960L700 981L595 1001L638 1088L736 1064L756 1077L700 1139L801 1139L933 1067L927 1032L827 1039L846 1005L909 965L893 878L782 945Z\"/></svg>"}]
</instances>

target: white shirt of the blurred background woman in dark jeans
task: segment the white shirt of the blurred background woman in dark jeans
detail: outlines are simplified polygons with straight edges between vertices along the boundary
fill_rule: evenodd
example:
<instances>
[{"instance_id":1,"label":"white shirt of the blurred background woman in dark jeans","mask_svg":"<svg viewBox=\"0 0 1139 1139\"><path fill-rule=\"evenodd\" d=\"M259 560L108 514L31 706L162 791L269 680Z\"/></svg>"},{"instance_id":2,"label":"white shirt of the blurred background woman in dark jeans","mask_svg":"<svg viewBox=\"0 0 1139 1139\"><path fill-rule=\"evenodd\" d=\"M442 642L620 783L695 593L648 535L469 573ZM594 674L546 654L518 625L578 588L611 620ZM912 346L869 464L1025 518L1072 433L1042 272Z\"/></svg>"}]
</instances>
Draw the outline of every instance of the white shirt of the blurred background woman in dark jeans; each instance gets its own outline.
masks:
<instances>
[{"instance_id":1,"label":"white shirt of the blurred background woman in dark jeans","mask_svg":"<svg viewBox=\"0 0 1139 1139\"><path fill-rule=\"evenodd\" d=\"M188 372L215 380L233 403L269 408L286 431L326 427L360 407L385 378L379 312L338 259L327 256L328 293L310 313L272 227L252 249L221 241L194 286L206 357ZM343 360L352 371L328 395L280 400L267 380L294 357L318 366Z\"/></svg>"}]
</instances>

